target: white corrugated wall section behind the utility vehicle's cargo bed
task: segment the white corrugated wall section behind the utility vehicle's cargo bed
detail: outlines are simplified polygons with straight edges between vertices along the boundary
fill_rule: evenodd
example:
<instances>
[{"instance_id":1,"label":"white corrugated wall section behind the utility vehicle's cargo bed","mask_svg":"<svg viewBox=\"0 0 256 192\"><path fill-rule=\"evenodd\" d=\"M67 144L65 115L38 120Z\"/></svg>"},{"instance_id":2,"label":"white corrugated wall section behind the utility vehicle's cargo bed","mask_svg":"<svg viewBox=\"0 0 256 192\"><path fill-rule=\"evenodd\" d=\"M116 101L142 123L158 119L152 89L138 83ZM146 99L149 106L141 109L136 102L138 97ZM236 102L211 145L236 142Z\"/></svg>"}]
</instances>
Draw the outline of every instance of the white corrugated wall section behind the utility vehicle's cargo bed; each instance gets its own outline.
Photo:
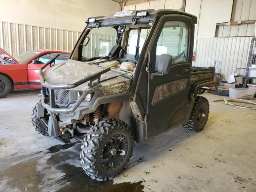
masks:
<instances>
[{"instance_id":1,"label":"white corrugated wall section behind the utility vehicle's cargo bed","mask_svg":"<svg viewBox=\"0 0 256 192\"><path fill-rule=\"evenodd\" d=\"M196 61L193 66L214 66L226 80L236 68L245 68L247 64L251 37L199 38ZM244 74L244 70L240 71Z\"/></svg>"}]
</instances>

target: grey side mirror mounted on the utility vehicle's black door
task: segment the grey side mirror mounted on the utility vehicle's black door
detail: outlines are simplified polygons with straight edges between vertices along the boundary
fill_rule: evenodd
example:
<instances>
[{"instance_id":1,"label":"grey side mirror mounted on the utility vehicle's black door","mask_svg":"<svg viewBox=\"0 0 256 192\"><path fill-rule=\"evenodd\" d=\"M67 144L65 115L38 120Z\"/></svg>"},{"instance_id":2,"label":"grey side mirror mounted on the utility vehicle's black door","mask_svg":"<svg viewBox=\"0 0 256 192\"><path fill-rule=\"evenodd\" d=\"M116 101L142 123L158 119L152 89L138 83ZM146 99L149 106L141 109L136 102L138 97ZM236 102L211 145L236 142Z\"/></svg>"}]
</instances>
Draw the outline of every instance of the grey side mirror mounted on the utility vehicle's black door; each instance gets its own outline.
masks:
<instances>
[{"instance_id":1,"label":"grey side mirror mounted on the utility vehicle's black door","mask_svg":"<svg viewBox=\"0 0 256 192\"><path fill-rule=\"evenodd\" d=\"M157 71L163 74L169 73L172 67L172 56L170 54L162 54L156 63Z\"/></svg>"}]
</instances>

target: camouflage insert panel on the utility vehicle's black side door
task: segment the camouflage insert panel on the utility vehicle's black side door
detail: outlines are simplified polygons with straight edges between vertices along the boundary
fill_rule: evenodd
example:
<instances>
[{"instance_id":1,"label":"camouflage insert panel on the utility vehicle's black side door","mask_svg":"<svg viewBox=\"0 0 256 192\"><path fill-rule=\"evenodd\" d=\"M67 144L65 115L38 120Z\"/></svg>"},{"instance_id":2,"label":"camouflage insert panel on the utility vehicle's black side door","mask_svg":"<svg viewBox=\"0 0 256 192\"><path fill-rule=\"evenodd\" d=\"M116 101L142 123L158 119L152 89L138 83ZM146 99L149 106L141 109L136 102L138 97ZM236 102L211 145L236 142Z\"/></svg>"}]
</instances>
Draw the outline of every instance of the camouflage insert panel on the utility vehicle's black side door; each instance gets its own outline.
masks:
<instances>
[{"instance_id":1,"label":"camouflage insert panel on the utility vehicle's black side door","mask_svg":"<svg viewBox=\"0 0 256 192\"><path fill-rule=\"evenodd\" d=\"M161 102L161 100L164 100L178 92L181 92L183 90L187 89L188 79L180 79L177 81L173 81L170 83L166 83L160 86L157 86L154 92L152 105L155 105L158 102Z\"/></svg>"}]
</instances>

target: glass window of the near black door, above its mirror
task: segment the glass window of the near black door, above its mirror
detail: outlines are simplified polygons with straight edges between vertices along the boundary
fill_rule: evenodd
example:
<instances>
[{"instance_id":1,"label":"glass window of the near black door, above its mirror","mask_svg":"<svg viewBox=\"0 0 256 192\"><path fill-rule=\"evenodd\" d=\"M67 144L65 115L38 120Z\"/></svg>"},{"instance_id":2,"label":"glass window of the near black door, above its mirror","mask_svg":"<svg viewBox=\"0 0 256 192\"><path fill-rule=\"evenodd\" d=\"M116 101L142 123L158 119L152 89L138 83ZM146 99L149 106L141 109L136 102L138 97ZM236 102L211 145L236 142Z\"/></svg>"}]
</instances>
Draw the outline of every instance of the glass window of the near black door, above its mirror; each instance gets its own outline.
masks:
<instances>
[{"instance_id":1,"label":"glass window of the near black door, above its mirror","mask_svg":"<svg viewBox=\"0 0 256 192\"><path fill-rule=\"evenodd\" d=\"M172 55L172 62L188 60L188 26L185 22L168 21L156 46L156 63L161 54Z\"/></svg>"}]
</instances>

